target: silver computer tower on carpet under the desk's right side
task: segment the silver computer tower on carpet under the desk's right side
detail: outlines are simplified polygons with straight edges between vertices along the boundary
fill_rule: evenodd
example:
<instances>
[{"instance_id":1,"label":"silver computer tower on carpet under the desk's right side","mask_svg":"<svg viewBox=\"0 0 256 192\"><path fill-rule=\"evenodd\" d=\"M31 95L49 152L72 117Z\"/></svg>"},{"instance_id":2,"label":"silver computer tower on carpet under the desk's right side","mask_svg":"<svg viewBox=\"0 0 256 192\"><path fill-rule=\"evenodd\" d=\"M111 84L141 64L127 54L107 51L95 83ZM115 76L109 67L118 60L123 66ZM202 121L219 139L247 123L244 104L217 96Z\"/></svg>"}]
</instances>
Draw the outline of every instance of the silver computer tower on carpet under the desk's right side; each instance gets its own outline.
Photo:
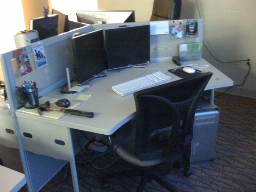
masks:
<instances>
[{"instance_id":1,"label":"silver computer tower on carpet under the desk's right side","mask_svg":"<svg viewBox=\"0 0 256 192\"><path fill-rule=\"evenodd\" d=\"M218 120L219 108L216 105L205 102L199 103L193 126L190 152L191 167L213 162Z\"/></svg>"}]
</instances>

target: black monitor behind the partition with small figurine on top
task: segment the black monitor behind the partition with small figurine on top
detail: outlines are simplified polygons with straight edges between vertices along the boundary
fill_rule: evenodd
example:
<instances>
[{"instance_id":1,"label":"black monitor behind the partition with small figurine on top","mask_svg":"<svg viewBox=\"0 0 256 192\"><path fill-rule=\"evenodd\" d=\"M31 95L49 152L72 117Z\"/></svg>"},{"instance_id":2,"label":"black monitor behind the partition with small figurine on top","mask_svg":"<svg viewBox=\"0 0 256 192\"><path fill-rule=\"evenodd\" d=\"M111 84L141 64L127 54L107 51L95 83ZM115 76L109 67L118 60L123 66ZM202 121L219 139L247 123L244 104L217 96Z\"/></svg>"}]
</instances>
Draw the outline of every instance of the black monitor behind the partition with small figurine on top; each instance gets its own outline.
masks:
<instances>
[{"instance_id":1,"label":"black monitor behind the partition with small figurine on top","mask_svg":"<svg viewBox=\"0 0 256 192\"><path fill-rule=\"evenodd\" d=\"M38 31L40 40L58 35L58 15L30 19L30 29Z\"/></svg>"}]
</instances>

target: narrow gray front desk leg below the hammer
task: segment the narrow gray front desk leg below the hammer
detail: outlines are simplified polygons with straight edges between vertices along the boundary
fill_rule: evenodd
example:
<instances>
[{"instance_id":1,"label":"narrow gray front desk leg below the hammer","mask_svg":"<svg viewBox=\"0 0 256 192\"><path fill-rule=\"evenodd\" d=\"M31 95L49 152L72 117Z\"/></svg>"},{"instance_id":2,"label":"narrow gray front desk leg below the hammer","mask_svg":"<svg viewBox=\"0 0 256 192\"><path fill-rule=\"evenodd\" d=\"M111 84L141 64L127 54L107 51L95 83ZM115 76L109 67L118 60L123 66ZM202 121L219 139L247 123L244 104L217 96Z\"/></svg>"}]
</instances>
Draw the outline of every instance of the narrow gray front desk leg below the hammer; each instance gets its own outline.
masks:
<instances>
[{"instance_id":1,"label":"narrow gray front desk leg below the hammer","mask_svg":"<svg viewBox=\"0 0 256 192\"><path fill-rule=\"evenodd\" d=\"M69 143L67 144L68 150L69 150L69 161L70 161L70 170L72 175L72 182L73 182L73 188L74 192L79 192L79 185L78 185L78 177L75 167L75 154L74 154L74 148L72 143L72 137L71 137L71 130L70 128L67 128L67 135L69 137Z\"/></svg>"}]
</instances>

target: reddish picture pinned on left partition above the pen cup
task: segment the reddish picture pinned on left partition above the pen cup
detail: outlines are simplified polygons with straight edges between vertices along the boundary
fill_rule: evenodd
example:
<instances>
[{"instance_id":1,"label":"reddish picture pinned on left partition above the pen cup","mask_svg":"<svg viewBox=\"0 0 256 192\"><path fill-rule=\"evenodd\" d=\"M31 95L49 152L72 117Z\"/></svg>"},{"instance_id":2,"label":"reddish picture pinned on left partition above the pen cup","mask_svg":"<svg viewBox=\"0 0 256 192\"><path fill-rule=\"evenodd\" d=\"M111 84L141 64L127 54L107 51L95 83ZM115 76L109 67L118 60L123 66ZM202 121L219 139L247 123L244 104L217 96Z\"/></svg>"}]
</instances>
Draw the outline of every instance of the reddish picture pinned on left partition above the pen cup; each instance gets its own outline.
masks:
<instances>
[{"instance_id":1,"label":"reddish picture pinned on left partition above the pen cup","mask_svg":"<svg viewBox=\"0 0 256 192\"><path fill-rule=\"evenodd\" d=\"M26 75L31 71L33 71L25 48L15 50L13 52L13 55L14 55L14 58L16 59L16 63L19 68L19 72L21 76Z\"/></svg>"}]
</instances>

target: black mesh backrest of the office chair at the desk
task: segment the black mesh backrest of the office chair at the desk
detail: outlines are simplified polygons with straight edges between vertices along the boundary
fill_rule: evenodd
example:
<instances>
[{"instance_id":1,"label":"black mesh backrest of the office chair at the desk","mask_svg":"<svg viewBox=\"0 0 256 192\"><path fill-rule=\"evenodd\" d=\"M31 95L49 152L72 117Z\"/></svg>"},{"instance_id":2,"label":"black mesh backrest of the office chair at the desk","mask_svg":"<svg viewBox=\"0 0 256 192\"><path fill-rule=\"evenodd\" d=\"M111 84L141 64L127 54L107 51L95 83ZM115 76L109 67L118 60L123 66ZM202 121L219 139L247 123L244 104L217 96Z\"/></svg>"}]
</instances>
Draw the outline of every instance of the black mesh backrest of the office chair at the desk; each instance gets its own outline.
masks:
<instances>
[{"instance_id":1,"label":"black mesh backrest of the office chair at the desk","mask_svg":"<svg viewBox=\"0 0 256 192\"><path fill-rule=\"evenodd\" d=\"M137 153L149 153L156 149L156 146L148 140L149 134L154 130L175 124L177 130L174 131L176 133L192 131L199 95L211 75L211 72L192 75L191 78L165 83L134 93Z\"/></svg>"}]
</instances>

